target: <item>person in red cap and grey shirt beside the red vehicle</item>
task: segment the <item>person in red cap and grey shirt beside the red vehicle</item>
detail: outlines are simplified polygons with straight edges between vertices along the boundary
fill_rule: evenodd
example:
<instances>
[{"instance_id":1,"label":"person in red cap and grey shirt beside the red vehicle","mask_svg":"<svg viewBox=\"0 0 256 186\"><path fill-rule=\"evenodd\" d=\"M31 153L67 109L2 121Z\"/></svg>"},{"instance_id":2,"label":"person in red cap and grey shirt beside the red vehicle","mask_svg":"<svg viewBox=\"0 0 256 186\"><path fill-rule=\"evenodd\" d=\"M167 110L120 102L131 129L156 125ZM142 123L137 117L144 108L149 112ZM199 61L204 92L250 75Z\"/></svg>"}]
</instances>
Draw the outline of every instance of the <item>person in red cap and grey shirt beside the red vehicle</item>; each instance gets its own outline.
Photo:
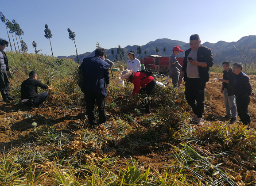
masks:
<instances>
[{"instance_id":1,"label":"person in red cap and grey shirt beside the red vehicle","mask_svg":"<svg viewBox=\"0 0 256 186\"><path fill-rule=\"evenodd\" d=\"M178 85L178 80L180 78L179 71L182 70L182 66L178 63L176 56L179 54L179 52L183 51L184 50L179 49L178 46L175 46L172 49L171 56L169 57L169 78L171 78L174 88ZM165 81L167 81L169 78L167 78Z\"/></svg>"}]
</instances>

